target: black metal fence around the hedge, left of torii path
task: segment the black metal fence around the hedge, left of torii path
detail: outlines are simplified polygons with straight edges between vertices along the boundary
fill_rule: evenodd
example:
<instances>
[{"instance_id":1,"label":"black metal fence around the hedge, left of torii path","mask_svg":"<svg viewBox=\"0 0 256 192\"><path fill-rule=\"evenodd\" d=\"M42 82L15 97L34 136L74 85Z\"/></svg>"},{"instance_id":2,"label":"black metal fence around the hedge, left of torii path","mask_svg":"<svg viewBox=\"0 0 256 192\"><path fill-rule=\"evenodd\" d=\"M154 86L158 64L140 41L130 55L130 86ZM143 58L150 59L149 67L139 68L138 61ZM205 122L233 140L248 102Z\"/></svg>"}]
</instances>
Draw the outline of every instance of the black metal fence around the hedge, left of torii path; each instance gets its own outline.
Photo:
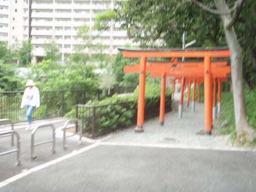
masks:
<instances>
[{"instance_id":1,"label":"black metal fence around the hedge, left of torii path","mask_svg":"<svg viewBox=\"0 0 256 192\"><path fill-rule=\"evenodd\" d=\"M166 97L165 111L171 110L171 96ZM144 118L159 116L160 98L145 99ZM88 137L115 131L135 124L137 121L137 101L111 103L105 105L76 105L76 117L82 122L83 133Z\"/></svg>"}]
</instances>

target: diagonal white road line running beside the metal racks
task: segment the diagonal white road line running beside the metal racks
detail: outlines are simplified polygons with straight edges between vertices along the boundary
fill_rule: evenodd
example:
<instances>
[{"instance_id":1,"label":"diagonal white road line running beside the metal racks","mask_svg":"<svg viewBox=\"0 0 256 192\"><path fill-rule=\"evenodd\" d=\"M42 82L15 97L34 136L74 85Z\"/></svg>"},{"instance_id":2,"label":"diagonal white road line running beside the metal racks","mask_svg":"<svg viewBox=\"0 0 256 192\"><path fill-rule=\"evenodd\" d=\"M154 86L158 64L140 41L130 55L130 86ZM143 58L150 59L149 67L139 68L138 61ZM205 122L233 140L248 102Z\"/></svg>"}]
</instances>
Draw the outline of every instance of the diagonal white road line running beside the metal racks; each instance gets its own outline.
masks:
<instances>
[{"instance_id":1,"label":"diagonal white road line running beside the metal racks","mask_svg":"<svg viewBox=\"0 0 256 192\"><path fill-rule=\"evenodd\" d=\"M56 164L56 163L58 163L58 162L60 162L60 161L63 161L63 160L65 160L65 159L71 158L71 157L73 157L73 156L75 156L75 155L78 155L78 154L81 154L81 153L83 153L83 152L86 152L86 151L90 150L91 148L94 148L94 147L96 147L96 146L98 146L98 145L99 145L99 143L91 144L91 145L89 145L89 146L86 146L86 147L81 148L80 150L73 151L72 153L67 154L67 155L65 155L65 156L59 157L59 158L54 159L54 160L52 160L52 161L49 161L49 162L47 162L47 163L44 163L44 164L38 165L38 166L36 166L36 167L33 167L33 168L31 168L31 169L25 170L24 172L22 172L22 173L20 173L20 174L18 174L18 175L15 175L15 176L13 176L13 177L11 177L11 178L9 178L9 179L6 179L5 181L0 182L0 188L3 187L3 186L5 186L5 185L8 185L8 184L10 184L10 183L12 183L12 182L14 182L14 181L20 179L20 178L23 178L23 177L25 177L25 176L27 176L27 175L33 173L33 172L36 172L37 170L46 168L46 167L48 167L48 166L50 166L50 165Z\"/></svg>"}]
</instances>

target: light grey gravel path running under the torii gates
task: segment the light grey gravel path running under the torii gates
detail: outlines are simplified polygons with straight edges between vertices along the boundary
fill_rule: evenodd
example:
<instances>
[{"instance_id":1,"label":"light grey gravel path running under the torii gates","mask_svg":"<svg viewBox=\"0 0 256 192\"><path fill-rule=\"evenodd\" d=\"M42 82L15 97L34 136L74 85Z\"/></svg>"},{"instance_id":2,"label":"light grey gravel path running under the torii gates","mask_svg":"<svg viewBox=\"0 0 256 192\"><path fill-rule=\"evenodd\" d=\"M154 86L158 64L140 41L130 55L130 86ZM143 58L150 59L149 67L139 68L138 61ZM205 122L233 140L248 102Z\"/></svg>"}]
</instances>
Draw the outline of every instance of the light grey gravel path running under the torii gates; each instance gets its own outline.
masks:
<instances>
[{"instance_id":1,"label":"light grey gravel path running under the torii gates","mask_svg":"<svg viewBox=\"0 0 256 192\"><path fill-rule=\"evenodd\" d=\"M177 99L176 99L177 98ZM144 122L144 132L135 133L135 125L118 130L105 139L106 142L172 144L204 147L231 147L229 135L218 135L213 130L211 136L200 133L204 131L204 105L196 103L196 112L191 112L184 100L183 117L178 119L179 95L175 95L173 111L165 114L164 126L160 126L159 117Z\"/></svg>"}]
</instances>

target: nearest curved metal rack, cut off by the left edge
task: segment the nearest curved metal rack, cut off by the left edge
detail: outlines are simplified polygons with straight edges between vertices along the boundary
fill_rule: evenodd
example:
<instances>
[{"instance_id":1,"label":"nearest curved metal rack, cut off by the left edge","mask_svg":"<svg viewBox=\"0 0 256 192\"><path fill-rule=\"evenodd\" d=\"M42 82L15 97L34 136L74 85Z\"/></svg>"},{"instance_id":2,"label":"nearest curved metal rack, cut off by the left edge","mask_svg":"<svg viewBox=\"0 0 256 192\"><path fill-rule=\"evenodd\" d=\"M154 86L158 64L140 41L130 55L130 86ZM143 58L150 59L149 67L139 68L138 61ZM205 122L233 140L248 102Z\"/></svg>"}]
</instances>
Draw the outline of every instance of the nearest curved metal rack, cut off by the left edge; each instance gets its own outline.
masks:
<instances>
[{"instance_id":1,"label":"nearest curved metal rack, cut off by the left edge","mask_svg":"<svg viewBox=\"0 0 256 192\"><path fill-rule=\"evenodd\" d=\"M6 155L6 154L9 154L9 153L13 153L13 152L17 152L17 160L16 160L16 165L19 165L20 164L20 137L19 137L19 134L18 132L16 131L2 131L0 132L0 136L10 136L12 135L16 135L17 137L17 148L15 148L14 150L10 150L10 151L7 151L7 152L3 152L3 153L0 153L0 156L1 155Z\"/></svg>"}]
</instances>

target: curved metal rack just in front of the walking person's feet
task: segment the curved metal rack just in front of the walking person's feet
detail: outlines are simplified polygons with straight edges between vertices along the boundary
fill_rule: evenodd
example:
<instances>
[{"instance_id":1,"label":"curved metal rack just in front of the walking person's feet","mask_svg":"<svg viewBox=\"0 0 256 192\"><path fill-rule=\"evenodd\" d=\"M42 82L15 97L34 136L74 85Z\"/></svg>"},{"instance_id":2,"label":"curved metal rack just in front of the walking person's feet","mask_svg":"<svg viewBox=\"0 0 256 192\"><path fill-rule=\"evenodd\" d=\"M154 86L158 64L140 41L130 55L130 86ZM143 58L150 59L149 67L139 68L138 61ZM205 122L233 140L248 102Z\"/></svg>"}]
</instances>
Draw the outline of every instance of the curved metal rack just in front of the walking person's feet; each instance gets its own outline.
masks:
<instances>
[{"instance_id":1,"label":"curved metal rack just in front of the walking person's feet","mask_svg":"<svg viewBox=\"0 0 256 192\"><path fill-rule=\"evenodd\" d=\"M36 133L36 131L39 128L46 127L46 126L50 126L52 128L52 139L47 140L47 141L43 141L43 142L40 142L40 143L35 143L35 133ZM52 142L52 154L54 154L55 153L55 127L53 126L53 124L51 124L51 123L50 124L41 124L41 125L36 126L31 132L31 160L34 160L36 158L35 147L34 146L45 144L45 143L50 143L50 142Z\"/></svg>"}]
</instances>

